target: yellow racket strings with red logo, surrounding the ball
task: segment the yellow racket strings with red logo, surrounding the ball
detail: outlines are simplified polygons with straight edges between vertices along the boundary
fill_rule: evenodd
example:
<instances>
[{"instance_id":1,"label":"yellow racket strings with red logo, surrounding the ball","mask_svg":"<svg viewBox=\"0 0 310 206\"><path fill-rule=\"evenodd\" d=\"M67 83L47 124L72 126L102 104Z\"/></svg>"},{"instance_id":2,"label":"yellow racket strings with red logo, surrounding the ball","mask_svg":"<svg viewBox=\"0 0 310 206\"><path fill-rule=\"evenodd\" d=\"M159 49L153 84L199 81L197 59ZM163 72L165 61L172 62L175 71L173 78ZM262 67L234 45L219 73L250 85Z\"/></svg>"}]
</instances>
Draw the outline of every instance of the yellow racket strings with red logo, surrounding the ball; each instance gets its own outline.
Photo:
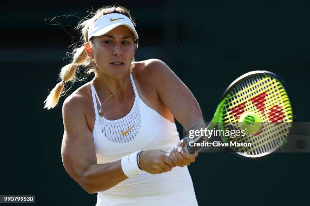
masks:
<instances>
[{"instance_id":1,"label":"yellow racket strings with red logo, surrounding the ball","mask_svg":"<svg viewBox=\"0 0 310 206\"><path fill-rule=\"evenodd\" d=\"M222 106L224 127L238 127L242 114L256 113L262 124L258 134L247 134L229 141L251 142L251 147L234 147L236 151L257 155L276 150L286 139L293 118L289 98L275 78L256 75L242 80L232 89ZM227 127L226 127L227 128Z\"/></svg>"}]
</instances>

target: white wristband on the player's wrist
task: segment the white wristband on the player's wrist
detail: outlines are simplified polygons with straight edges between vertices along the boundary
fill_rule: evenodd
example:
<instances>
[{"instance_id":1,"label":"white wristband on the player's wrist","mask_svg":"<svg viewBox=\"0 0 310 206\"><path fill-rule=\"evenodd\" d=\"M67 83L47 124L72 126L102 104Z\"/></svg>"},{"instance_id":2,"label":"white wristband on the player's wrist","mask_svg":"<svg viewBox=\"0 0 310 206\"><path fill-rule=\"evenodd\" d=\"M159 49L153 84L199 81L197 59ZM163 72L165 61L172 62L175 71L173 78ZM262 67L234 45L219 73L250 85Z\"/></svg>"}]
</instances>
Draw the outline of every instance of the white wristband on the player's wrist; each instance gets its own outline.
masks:
<instances>
[{"instance_id":1,"label":"white wristband on the player's wrist","mask_svg":"<svg viewBox=\"0 0 310 206\"><path fill-rule=\"evenodd\" d=\"M142 172L138 167L137 155L140 151L133 152L122 158L122 170L127 177L134 177Z\"/></svg>"}]
</instances>

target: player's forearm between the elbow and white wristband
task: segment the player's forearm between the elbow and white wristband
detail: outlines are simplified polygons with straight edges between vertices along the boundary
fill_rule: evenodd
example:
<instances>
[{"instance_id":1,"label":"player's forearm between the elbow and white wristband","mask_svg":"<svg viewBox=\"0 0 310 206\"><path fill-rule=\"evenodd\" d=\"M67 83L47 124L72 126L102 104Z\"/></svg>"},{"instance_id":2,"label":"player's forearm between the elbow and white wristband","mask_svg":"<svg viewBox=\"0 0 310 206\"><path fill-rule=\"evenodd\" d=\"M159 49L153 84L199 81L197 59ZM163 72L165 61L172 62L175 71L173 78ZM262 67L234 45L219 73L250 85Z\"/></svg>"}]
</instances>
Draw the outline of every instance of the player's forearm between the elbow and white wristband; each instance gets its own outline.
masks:
<instances>
[{"instance_id":1,"label":"player's forearm between the elbow and white wristband","mask_svg":"<svg viewBox=\"0 0 310 206\"><path fill-rule=\"evenodd\" d=\"M124 174L121 160L106 164L91 165L84 172L82 186L89 193L105 191L128 177Z\"/></svg>"}]
</instances>

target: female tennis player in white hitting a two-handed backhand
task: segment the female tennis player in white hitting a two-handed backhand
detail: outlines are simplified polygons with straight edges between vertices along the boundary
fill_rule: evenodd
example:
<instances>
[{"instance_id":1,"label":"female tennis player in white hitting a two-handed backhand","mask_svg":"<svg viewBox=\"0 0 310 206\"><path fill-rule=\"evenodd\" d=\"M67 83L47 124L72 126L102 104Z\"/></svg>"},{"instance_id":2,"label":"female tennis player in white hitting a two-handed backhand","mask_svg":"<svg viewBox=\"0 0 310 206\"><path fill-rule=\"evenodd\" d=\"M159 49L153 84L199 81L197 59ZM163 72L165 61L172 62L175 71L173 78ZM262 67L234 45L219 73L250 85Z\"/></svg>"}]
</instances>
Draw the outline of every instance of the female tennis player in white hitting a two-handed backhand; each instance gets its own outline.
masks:
<instances>
[{"instance_id":1,"label":"female tennis player in white hitting a two-handed backhand","mask_svg":"<svg viewBox=\"0 0 310 206\"><path fill-rule=\"evenodd\" d=\"M83 45L45 100L54 108L78 67L94 73L63 104L67 173L98 193L96 205L197 205L187 166L198 153L180 152L174 123L188 130L203 121L195 97L162 61L134 62L138 34L127 9L102 8L78 28Z\"/></svg>"}]
</instances>

